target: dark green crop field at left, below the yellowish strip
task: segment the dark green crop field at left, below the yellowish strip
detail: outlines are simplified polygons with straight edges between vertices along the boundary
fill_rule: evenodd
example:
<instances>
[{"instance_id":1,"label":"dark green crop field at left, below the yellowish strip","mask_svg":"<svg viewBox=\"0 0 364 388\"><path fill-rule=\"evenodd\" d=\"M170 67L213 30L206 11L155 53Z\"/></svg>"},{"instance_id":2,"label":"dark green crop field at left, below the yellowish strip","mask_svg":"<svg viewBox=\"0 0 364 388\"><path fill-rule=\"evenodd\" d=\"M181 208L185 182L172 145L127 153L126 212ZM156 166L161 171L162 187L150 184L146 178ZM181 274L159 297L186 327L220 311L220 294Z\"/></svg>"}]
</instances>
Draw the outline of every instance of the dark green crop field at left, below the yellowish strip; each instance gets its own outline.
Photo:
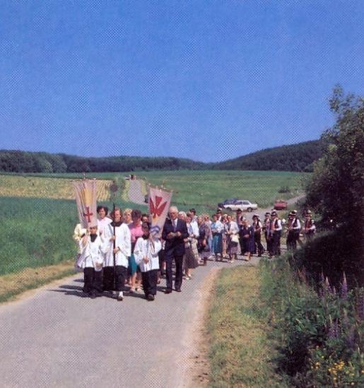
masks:
<instances>
[{"instance_id":1,"label":"dark green crop field at left, below the yellowish strip","mask_svg":"<svg viewBox=\"0 0 364 388\"><path fill-rule=\"evenodd\" d=\"M135 207L119 200L117 205ZM0 208L0 275L57 264L76 254L72 239L78 223L75 201L0 197Z\"/></svg>"}]
</instances>

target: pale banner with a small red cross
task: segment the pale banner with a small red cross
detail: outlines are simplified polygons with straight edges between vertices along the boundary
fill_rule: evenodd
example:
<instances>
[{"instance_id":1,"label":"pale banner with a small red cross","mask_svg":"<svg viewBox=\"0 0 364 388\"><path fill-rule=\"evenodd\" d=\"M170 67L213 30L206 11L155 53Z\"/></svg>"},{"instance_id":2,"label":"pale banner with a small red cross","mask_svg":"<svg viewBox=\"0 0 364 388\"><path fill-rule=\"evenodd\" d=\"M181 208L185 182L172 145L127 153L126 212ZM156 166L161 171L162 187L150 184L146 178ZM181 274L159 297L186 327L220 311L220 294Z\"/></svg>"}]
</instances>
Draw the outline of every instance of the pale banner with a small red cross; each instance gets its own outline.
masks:
<instances>
[{"instance_id":1,"label":"pale banner with a small red cross","mask_svg":"<svg viewBox=\"0 0 364 388\"><path fill-rule=\"evenodd\" d=\"M82 228L98 225L96 211L96 180L74 180L78 218Z\"/></svg>"}]
</instances>

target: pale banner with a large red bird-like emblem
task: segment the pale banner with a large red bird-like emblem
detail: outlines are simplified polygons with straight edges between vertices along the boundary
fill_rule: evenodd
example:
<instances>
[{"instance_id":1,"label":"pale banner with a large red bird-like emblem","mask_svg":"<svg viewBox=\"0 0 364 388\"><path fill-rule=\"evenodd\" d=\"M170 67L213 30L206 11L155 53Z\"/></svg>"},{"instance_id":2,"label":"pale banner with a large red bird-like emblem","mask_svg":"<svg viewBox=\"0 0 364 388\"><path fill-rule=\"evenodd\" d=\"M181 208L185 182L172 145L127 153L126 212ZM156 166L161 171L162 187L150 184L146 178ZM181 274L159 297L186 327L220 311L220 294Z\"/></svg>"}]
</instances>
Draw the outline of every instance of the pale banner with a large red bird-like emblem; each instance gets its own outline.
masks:
<instances>
[{"instance_id":1,"label":"pale banner with a large red bird-like emblem","mask_svg":"<svg viewBox=\"0 0 364 388\"><path fill-rule=\"evenodd\" d=\"M165 218L170 208L172 192L165 192L162 189L148 187L148 213L151 221L151 235L160 237L162 235Z\"/></svg>"}]
</instances>

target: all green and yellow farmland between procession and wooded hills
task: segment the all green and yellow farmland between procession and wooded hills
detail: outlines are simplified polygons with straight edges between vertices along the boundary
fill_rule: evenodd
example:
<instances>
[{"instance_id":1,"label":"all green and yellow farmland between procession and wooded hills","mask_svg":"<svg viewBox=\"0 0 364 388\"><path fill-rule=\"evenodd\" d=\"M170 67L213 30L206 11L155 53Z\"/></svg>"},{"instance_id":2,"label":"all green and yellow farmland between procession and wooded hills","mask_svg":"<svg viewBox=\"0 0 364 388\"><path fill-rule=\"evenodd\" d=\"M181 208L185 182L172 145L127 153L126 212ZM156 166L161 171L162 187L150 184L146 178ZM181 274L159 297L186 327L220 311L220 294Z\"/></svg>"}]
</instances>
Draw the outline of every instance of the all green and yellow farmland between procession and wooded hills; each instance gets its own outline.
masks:
<instances>
[{"instance_id":1,"label":"all green and yellow farmland between procession and wooded hills","mask_svg":"<svg viewBox=\"0 0 364 388\"><path fill-rule=\"evenodd\" d=\"M290 198L302 192L305 177L297 172L264 171L140 171L131 172L144 182L164 185L173 191L172 203L181 209L195 207L212 213L218 202L241 197L269 206L277 197ZM90 173L98 179L98 202L112 206L110 184L121 190L115 203L122 208L141 208L127 200L124 176L129 172ZM80 174L0 175L0 275L24 268L49 266L71 259L76 254L72 240L78 222L71 179ZM143 185L146 189L146 184ZM289 192L278 193L282 187Z\"/></svg>"}]
</instances>

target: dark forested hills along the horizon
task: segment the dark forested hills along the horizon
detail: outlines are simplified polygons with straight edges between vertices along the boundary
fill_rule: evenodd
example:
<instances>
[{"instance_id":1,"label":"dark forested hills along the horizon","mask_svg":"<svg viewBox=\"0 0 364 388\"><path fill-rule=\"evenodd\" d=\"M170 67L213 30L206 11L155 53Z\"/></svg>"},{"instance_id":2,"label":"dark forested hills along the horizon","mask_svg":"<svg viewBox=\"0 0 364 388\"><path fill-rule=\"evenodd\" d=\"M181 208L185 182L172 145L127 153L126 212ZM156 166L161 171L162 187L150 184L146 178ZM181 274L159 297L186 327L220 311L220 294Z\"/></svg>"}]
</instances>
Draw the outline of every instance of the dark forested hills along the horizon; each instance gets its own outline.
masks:
<instances>
[{"instance_id":1,"label":"dark forested hills along the horizon","mask_svg":"<svg viewBox=\"0 0 364 388\"><path fill-rule=\"evenodd\" d=\"M182 158L113 156L86 158L64 153L0 150L2 172L118 172L134 170L278 170L312 171L322 156L324 141L267 148L221 163L203 163Z\"/></svg>"}]
</instances>

